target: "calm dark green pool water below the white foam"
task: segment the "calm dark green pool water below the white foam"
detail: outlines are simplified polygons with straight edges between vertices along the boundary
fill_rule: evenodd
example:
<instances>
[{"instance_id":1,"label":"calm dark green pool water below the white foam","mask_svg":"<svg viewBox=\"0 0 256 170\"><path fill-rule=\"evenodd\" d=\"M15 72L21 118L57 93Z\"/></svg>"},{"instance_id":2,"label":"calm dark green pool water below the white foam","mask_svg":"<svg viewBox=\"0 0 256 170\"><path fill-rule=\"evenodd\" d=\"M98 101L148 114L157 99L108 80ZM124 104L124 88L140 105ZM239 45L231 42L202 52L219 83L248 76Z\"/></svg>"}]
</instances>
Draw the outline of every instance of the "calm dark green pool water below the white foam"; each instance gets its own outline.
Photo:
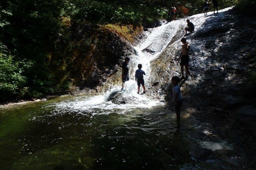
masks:
<instances>
[{"instance_id":1,"label":"calm dark green pool water below the white foam","mask_svg":"<svg viewBox=\"0 0 256 170\"><path fill-rule=\"evenodd\" d=\"M83 98L88 97L79 100ZM124 114L56 106L75 100L0 107L1 169L188 169L219 164L191 158L195 127L189 118L177 127L166 105Z\"/></svg>"}]
</instances>

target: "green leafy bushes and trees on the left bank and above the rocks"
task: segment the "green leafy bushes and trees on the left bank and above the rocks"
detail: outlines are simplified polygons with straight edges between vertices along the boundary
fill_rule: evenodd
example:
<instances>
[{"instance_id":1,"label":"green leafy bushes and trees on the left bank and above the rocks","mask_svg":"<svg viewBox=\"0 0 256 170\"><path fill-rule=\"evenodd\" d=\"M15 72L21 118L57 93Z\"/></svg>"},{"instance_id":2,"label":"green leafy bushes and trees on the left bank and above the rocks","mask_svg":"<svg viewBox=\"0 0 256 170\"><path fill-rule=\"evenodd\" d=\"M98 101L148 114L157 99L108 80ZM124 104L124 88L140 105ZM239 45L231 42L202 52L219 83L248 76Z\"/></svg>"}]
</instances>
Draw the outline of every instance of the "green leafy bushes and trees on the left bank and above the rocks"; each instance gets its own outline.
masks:
<instances>
[{"instance_id":1,"label":"green leafy bushes and trees on the left bank and above the rocks","mask_svg":"<svg viewBox=\"0 0 256 170\"><path fill-rule=\"evenodd\" d=\"M253 0L241 0L243 6ZM50 67L65 20L92 24L152 23L168 19L172 3L178 16L203 11L204 0L6 0L0 2L0 100L40 97L63 92L70 81L59 82ZM236 0L219 1L220 8ZM90 46L90 39L86 41ZM72 50L72 49L71 49ZM51 61L52 62L52 61ZM59 60L54 61L58 65Z\"/></svg>"}]
</instances>

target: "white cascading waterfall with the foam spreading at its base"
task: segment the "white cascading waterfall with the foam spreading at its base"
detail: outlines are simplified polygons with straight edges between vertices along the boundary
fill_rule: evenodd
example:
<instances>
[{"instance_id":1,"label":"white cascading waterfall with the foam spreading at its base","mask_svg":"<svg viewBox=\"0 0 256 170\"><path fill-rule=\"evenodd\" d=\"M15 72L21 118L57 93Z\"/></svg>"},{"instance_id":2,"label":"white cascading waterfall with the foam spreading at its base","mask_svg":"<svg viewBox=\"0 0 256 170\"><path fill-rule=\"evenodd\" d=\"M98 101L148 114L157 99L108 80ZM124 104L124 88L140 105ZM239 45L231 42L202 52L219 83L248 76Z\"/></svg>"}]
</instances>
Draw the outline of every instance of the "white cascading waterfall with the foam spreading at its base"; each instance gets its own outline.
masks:
<instances>
[{"instance_id":1,"label":"white cascading waterfall with the foam spreading at its base","mask_svg":"<svg viewBox=\"0 0 256 170\"><path fill-rule=\"evenodd\" d=\"M134 47L135 55L131 56L134 63L130 70L130 80L125 82L125 91L119 92L122 99L128 100L124 105L118 105L109 101L112 93L120 91L121 87L113 87L104 95L98 95L91 98L84 99L79 97L75 101L63 101L56 104L54 114L62 113L63 110L74 110L79 113L92 113L92 114L108 114L116 111L118 113L127 113L132 108L149 108L156 105L164 104L158 100L152 100L147 95L137 94L137 83L134 80L135 70L137 65L142 64L142 70L146 72L144 76L147 86L148 78L151 74L150 61L156 58L166 48L172 37L180 30L180 25L184 25L184 20L177 20L165 23L162 26L153 28L148 32L148 36L143 43L138 47ZM131 66L130 66L131 67ZM116 99L119 100L119 99ZM52 106L50 106L52 107Z\"/></svg>"}]
</instances>

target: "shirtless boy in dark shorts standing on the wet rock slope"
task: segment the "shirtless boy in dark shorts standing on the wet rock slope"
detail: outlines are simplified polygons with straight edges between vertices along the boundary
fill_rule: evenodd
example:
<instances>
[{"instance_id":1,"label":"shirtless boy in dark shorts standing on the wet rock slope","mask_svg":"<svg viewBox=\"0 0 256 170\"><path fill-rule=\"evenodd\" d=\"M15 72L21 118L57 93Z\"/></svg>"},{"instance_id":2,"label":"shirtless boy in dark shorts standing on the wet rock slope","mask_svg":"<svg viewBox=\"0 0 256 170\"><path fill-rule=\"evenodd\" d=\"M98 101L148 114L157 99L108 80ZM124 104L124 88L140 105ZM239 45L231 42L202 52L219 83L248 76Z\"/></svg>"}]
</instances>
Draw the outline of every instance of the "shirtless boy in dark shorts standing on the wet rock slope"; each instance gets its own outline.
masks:
<instances>
[{"instance_id":1,"label":"shirtless boy in dark shorts standing on the wet rock slope","mask_svg":"<svg viewBox=\"0 0 256 170\"><path fill-rule=\"evenodd\" d=\"M189 58L188 58L188 52L189 52L189 48L190 45L187 42L187 39L185 37L183 37L181 39L182 42L182 47L181 47L181 53L180 53L180 71L182 74L181 79L184 79L184 66L186 69L186 77L185 79L188 79L188 62L189 62Z\"/></svg>"}]
</instances>

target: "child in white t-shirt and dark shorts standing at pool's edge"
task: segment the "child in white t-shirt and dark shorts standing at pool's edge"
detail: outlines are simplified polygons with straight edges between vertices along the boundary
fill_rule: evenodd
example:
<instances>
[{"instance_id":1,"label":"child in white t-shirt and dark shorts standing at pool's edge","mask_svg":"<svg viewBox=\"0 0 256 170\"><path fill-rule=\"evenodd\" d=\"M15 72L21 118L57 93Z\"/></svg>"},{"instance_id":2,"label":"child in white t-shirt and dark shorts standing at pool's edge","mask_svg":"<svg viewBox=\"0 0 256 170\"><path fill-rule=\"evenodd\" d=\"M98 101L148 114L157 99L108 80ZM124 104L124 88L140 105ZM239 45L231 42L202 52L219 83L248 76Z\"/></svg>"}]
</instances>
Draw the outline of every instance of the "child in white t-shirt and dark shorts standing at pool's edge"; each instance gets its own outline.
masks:
<instances>
[{"instance_id":1,"label":"child in white t-shirt and dark shorts standing at pool's edge","mask_svg":"<svg viewBox=\"0 0 256 170\"><path fill-rule=\"evenodd\" d=\"M177 76L172 77L172 94L174 99L174 108L176 112L177 124L180 124L180 108L183 103L180 86L178 85L180 78Z\"/></svg>"}]
</instances>

